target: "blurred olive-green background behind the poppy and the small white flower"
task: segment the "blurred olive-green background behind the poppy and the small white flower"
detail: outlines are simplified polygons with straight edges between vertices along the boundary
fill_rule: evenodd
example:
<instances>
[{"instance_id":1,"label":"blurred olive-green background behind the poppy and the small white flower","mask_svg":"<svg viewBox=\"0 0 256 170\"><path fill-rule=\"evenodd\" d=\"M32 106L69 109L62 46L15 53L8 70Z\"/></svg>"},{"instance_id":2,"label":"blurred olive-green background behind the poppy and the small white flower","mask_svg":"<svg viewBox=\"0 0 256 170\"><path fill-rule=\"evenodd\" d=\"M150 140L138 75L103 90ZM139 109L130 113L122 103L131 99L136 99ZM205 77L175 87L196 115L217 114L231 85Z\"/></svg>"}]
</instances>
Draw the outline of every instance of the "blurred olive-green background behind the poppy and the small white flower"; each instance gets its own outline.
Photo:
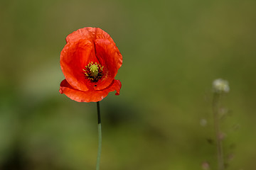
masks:
<instances>
[{"instance_id":1,"label":"blurred olive-green background behind the poppy and the small white flower","mask_svg":"<svg viewBox=\"0 0 256 170\"><path fill-rule=\"evenodd\" d=\"M95 169L96 103L59 94L60 51L100 27L123 55L101 102L101 169L216 169L212 82L227 79L227 169L256 169L255 0L1 0L0 169Z\"/></svg>"}]
</instances>

